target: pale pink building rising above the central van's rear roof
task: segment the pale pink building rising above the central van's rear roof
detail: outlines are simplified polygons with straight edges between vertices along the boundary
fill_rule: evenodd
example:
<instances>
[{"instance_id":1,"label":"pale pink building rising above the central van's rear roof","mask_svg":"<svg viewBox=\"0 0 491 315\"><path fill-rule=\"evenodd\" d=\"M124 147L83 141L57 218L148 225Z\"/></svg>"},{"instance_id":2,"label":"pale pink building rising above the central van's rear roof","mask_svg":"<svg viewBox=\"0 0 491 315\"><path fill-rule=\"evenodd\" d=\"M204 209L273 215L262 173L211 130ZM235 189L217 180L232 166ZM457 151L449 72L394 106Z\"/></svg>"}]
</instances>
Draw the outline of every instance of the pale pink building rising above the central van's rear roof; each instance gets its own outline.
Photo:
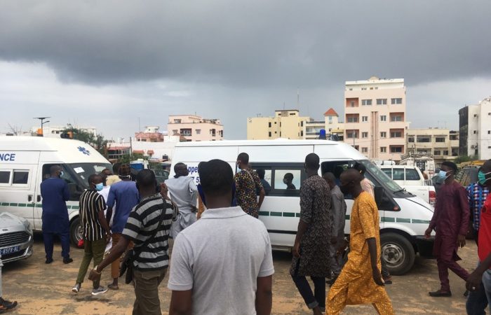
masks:
<instances>
[{"instance_id":1,"label":"pale pink building rising above the central van's rear roof","mask_svg":"<svg viewBox=\"0 0 491 315\"><path fill-rule=\"evenodd\" d=\"M205 119L196 115L169 116L168 134L180 134L187 141L223 140L223 125L219 119Z\"/></svg>"}]
</instances>

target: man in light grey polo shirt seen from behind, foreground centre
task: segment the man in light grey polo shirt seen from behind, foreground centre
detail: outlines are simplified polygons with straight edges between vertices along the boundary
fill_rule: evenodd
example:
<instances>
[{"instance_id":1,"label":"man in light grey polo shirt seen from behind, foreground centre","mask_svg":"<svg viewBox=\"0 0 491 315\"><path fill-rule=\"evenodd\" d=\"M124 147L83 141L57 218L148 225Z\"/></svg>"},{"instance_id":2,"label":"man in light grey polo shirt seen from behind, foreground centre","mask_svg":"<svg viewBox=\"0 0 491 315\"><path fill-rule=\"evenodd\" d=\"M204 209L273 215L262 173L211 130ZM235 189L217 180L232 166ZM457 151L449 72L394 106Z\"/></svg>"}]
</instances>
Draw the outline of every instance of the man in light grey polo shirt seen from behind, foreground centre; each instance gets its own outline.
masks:
<instances>
[{"instance_id":1,"label":"man in light grey polo shirt seen from behind, foreground centre","mask_svg":"<svg viewBox=\"0 0 491 315\"><path fill-rule=\"evenodd\" d=\"M175 239L169 314L271 314L274 267L264 224L230 207L227 162L203 163L199 175L207 209Z\"/></svg>"}]
</instances>

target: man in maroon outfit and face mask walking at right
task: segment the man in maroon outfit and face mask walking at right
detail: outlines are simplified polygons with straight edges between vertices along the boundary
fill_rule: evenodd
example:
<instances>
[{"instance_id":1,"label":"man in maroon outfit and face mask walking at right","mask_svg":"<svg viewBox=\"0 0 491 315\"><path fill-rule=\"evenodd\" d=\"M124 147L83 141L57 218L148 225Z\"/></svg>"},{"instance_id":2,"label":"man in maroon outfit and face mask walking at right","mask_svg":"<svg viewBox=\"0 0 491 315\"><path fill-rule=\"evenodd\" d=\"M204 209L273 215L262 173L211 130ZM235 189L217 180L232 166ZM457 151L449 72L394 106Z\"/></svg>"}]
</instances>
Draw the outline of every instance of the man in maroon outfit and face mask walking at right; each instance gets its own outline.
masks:
<instances>
[{"instance_id":1,"label":"man in maroon outfit and face mask walking at right","mask_svg":"<svg viewBox=\"0 0 491 315\"><path fill-rule=\"evenodd\" d=\"M424 232L424 236L429 238L431 232L436 230L433 255L436 256L438 265L440 289L429 292L432 297L452 296L450 281L448 281L448 269L464 281L469 276L466 269L457 263L461 259L457 255L457 249L466 244L470 211L466 189L454 180L455 173L457 173L455 163L442 163L438 175L445 181L438 193L438 200L436 200L435 211L429 228Z\"/></svg>"}]
</instances>

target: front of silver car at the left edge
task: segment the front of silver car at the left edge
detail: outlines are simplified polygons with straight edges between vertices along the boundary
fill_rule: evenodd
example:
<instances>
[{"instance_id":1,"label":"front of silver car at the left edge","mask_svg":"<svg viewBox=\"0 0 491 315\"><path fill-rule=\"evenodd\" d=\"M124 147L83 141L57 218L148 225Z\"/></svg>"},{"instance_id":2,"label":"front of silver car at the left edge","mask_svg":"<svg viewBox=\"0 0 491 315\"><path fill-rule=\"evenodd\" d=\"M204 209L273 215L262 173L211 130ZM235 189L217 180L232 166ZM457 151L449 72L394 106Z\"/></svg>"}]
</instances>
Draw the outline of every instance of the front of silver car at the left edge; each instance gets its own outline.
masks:
<instances>
[{"instance_id":1,"label":"front of silver car at the left edge","mask_svg":"<svg viewBox=\"0 0 491 315\"><path fill-rule=\"evenodd\" d=\"M29 258L32 255L33 242L29 221L8 212L0 214L0 255L2 262Z\"/></svg>"}]
</instances>

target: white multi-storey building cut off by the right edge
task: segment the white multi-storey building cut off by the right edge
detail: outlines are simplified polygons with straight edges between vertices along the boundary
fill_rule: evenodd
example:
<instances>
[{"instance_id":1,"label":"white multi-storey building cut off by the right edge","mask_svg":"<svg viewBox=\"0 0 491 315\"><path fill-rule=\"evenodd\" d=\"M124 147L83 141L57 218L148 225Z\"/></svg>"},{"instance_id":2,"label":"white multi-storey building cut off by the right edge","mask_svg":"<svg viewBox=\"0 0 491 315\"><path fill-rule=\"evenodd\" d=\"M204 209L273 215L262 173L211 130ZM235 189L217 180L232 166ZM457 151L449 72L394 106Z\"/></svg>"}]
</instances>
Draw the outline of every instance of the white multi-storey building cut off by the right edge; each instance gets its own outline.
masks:
<instances>
[{"instance_id":1,"label":"white multi-storey building cut off by the right edge","mask_svg":"<svg viewBox=\"0 0 491 315\"><path fill-rule=\"evenodd\" d=\"M459 109L459 154L491 158L491 97Z\"/></svg>"}]
</instances>

